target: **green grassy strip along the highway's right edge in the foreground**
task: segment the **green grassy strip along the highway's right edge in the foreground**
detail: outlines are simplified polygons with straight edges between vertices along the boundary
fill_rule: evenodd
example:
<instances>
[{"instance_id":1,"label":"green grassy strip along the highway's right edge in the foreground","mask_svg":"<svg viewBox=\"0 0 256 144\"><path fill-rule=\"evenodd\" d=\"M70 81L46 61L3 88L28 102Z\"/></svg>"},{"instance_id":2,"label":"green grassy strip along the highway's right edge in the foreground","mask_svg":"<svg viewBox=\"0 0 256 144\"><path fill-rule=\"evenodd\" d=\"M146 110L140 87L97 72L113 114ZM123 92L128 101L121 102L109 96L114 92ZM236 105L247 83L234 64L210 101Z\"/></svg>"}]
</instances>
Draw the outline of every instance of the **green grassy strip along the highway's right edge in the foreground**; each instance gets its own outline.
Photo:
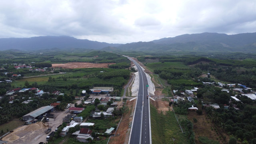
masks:
<instances>
[{"instance_id":1,"label":"green grassy strip along the highway's right edge in the foreground","mask_svg":"<svg viewBox=\"0 0 256 144\"><path fill-rule=\"evenodd\" d=\"M187 144L186 134L180 130L172 111L159 114L150 104L152 144ZM175 141L172 140L175 139Z\"/></svg>"}]
</instances>

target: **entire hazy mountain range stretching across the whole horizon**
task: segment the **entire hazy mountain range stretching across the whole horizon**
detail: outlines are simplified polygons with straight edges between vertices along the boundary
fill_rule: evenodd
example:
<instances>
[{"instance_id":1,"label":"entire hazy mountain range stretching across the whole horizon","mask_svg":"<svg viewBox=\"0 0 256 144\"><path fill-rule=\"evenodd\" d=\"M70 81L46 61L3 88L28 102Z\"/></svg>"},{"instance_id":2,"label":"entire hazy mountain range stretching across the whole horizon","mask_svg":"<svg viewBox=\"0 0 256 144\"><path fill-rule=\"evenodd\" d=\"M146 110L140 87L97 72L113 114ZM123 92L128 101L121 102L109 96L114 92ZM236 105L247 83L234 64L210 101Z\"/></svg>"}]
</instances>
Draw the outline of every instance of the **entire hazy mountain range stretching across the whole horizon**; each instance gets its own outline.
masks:
<instances>
[{"instance_id":1,"label":"entire hazy mountain range stretching across the whole horizon","mask_svg":"<svg viewBox=\"0 0 256 144\"><path fill-rule=\"evenodd\" d=\"M39 36L32 38L0 38L0 50L42 50L42 49L94 49L105 51L150 51L150 52L256 52L256 32L243 34L183 34L173 38L161 38L150 42L108 44L80 40L70 36Z\"/></svg>"}]
</instances>

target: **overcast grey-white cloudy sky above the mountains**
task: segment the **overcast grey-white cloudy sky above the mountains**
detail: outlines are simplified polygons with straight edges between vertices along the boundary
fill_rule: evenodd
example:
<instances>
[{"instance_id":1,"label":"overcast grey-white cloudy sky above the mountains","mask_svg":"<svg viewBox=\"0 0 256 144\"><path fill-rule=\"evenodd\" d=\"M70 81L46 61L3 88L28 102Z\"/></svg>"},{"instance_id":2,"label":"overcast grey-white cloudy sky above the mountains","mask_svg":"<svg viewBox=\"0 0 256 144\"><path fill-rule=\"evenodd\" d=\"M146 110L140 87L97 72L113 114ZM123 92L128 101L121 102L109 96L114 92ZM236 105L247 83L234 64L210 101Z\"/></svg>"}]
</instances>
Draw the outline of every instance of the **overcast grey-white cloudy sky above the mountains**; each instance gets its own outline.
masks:
<instances>
[{"instance_id":1,"label":"overcast grey-white cloudy sky above the mountains","mask_svg":"<svg viewBox=\"0 0 256 144\"><path fill-rule=\"evenodd\" d=\"M108 43L256 32L256 0L1 0L0 38L73 36Z\"/></svg>"}]
</instances>

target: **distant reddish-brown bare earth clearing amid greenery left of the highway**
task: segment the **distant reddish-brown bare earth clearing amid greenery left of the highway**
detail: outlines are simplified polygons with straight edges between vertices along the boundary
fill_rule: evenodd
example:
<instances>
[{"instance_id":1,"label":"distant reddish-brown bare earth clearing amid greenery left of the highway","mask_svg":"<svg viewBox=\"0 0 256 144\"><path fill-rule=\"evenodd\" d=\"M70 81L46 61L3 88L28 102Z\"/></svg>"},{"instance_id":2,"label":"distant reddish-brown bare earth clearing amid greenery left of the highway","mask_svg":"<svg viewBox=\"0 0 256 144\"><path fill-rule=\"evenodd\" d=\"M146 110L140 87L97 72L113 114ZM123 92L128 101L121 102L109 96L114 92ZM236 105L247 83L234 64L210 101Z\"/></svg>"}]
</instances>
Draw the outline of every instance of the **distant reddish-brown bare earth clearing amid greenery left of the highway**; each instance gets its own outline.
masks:
<instances>
[{"instance_id":1,"label":"distant reddish-brown bare earth clearing amid greenery left of the highway","mask_svg":"<svg viewBox=\"0 0 256 144\"><path fill-rule=\"evenodd\" d=\"M52 64L52 68L108 68L110 64L115 63L68 62L66 64Z\"/></svg>"}]
</instances>

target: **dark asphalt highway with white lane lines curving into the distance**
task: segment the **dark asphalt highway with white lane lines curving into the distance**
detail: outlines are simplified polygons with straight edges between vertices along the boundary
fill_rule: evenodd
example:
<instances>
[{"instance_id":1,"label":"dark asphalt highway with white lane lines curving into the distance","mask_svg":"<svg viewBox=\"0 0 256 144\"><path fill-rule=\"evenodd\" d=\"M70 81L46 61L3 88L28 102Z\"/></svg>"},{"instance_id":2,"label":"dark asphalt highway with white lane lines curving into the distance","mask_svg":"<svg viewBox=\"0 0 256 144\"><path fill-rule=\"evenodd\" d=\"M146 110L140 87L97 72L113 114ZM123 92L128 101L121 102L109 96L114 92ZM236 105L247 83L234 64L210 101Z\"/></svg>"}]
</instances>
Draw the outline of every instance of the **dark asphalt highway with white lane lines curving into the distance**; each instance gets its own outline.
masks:
<instances>
[{"instance_id":1,"label":"dark asphalt highway with white lane lines curving into the distance","mask_svg":"<svg viewBox=\"0 0 256 144\"><path fill-rule=\"evenodd\" d=\"M129 57L128 57L129 58ZM151 144L151 128L149 114L148 80L141 66L132 58L139 73L139 90L130 132L129 144Z\"/></svg>"}]
</instances>

